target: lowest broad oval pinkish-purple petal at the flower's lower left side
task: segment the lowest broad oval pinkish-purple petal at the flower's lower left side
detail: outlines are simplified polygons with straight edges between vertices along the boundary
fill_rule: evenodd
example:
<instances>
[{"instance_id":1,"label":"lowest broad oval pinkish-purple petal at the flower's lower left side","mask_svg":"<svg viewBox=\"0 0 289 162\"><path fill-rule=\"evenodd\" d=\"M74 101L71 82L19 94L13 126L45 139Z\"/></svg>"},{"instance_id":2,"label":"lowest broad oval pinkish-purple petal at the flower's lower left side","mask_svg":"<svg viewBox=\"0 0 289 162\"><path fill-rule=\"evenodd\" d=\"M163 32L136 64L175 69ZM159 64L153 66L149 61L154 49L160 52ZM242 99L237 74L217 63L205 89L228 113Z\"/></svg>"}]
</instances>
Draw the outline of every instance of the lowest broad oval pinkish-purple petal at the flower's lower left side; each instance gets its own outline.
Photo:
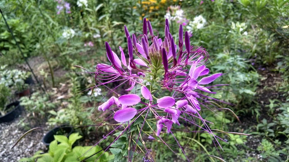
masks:
<instances>
[{"instance_id":1,"label":"lowest broad oval pinkish-purple petal at the flower's lower left side","mask_svg":"<svg viewBox=\"0 0 289 162\"><path fill-rule=\"evenodd\" d=\"M132 119L136 113L137 110L132 107L120 109L114 113L113 119L119 123L126 122Z\"/></svg>"}]
</instances>

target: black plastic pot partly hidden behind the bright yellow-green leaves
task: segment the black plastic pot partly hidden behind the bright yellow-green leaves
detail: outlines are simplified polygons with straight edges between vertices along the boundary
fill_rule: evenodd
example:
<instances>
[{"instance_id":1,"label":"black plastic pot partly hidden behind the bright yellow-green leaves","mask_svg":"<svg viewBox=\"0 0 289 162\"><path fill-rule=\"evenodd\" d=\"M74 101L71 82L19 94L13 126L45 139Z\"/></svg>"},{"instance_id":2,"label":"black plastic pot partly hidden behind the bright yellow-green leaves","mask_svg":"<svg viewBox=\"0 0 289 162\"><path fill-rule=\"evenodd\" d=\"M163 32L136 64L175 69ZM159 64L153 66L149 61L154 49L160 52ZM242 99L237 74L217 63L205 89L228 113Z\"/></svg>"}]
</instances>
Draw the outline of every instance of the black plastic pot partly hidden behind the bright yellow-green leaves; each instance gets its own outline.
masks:
<instances>
[{"instance_id":1,"label":"black plastic pot partly hidden behind the bright yellow-green leaves","mask_svg":"<svg viewBox=\"0 0 289 162\"><path fill-rule=\"evenodd\" d=\"M66 137L68 138L69 135L73 133L73 128L72 127L56 127L51 129L50 131L45 134L45 136L42 138L42 143L45 144L46 146L50 145L50 142L54 140L54 135L57 135L58 131L65 132L67 135ZM58 134L61 135L61 134Z\"/></svg>"}]
</instances>

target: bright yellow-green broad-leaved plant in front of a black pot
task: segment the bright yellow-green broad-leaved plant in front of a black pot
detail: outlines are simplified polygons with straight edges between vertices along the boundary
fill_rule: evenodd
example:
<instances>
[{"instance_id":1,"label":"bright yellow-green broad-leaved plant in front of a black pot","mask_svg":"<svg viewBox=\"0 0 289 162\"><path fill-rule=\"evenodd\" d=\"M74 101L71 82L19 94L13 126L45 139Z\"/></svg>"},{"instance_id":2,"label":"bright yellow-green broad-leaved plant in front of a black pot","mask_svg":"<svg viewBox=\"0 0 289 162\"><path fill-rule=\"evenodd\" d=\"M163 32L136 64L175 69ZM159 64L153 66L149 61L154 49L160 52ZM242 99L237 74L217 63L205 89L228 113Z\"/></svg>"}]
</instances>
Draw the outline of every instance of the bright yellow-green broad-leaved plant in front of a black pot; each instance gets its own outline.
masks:
<instances>
[{"instance_id":1,"label":"bright yellow-green broad-leaved plant in front of a black pot","mask_svg":"<svg viewBox=\"0 0 289 162\"><path fill-rule=\"evenodd\" d=\"M48 153L40 154L37 151L33 157L22 158L19 161L59 161L59 162L78 162L78 161L100 161L106 162L109 159L108 153L104 153L101 147L97 146L75 146L76 140L82 138L78 133L71 134L68 138L63 135L54 135L49 145ZM58 144L58 142L60 142ZM101 156L100 156L101 155Z\"/></svg>"}]
</instances>

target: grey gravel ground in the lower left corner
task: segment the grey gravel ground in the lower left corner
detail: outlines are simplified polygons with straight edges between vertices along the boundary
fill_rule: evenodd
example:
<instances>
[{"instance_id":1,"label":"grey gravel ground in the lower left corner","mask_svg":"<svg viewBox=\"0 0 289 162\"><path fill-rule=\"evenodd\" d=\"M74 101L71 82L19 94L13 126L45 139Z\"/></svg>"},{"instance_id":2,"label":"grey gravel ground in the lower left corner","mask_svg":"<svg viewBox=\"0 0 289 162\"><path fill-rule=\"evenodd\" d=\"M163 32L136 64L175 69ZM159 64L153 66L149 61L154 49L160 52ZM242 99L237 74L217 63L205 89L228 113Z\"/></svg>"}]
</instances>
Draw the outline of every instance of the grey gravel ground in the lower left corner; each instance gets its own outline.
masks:
<instances>
[{"instance_id":1,"label":"grey gravel ground in the lower left corner","mask_svg":"<svg viewBox=\"0 0 289 162\"><path fill-rule=\"evenodd\" d=\"M14 147L16 141L26 132L18 125L21 118L8 123L0 123L0 161L16 162L23 157L31 157L38 150L46 151L47 148L41 140L47 130L37 129L27 134Z\"/></svg>"}]
</instances>

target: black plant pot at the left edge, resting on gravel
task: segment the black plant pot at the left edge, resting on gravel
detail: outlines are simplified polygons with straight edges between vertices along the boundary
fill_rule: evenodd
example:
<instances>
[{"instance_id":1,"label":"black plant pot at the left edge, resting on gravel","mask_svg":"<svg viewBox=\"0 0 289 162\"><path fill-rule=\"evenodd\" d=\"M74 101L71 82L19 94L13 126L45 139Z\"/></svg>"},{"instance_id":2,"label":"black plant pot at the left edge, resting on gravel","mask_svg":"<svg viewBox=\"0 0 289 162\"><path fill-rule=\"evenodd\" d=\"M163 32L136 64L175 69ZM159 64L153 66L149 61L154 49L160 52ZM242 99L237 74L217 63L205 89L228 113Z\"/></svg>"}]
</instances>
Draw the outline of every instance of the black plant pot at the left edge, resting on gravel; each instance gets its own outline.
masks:
<instances>
[{"instance_id":1,"label":"black plant pot at the left edge, resting on gravel","mask_svg":"<svg viewBox=\"0 0 289 162\"><path fill-rule=\"evenodd\" d=\"M11 106L15 106L15 108L13 110L9 111L4 116L1 116L0 117L0 123L12 121L12 120L16 119L17 117L19 117L19 115L21 115L24 108L19 103L20 103L19 101L16 101L16 102L13 102L13 103L8 104L6 106L6 108L10 108Z\"/></svg>"}]
</instances>

